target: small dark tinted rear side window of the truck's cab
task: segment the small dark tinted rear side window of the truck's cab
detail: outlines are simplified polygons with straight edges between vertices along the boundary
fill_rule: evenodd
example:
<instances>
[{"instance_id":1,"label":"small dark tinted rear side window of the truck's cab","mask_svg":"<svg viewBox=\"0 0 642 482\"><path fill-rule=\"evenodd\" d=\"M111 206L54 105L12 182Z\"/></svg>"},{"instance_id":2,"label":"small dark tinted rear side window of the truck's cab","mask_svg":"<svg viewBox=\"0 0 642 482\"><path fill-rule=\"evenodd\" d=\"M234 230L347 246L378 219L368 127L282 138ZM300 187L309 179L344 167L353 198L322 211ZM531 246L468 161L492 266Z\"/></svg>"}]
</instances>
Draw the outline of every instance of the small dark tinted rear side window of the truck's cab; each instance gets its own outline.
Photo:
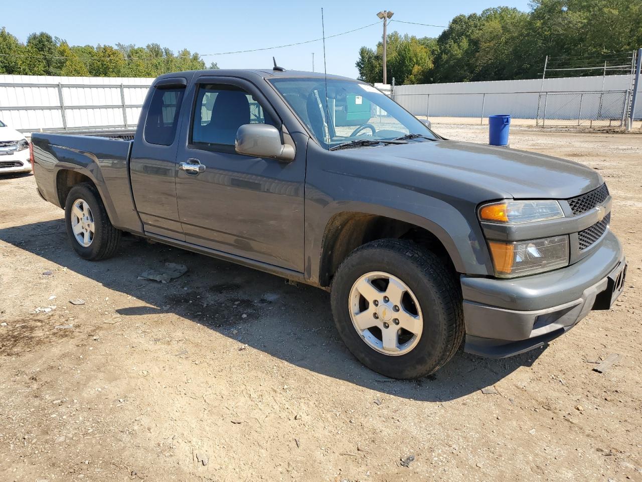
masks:
<instances>
[{"instance_id":1,"label":"small dark tinted rear side window of the truck's cab","mask_svg":"<svg viewBox=\"0 0 642 482\"><path fill-rule=\"evenodd\" d=\"M184 94L184 87L155 88L143 132L146 142L163 146L174 142Z\"/></svg>"}]
</instances>

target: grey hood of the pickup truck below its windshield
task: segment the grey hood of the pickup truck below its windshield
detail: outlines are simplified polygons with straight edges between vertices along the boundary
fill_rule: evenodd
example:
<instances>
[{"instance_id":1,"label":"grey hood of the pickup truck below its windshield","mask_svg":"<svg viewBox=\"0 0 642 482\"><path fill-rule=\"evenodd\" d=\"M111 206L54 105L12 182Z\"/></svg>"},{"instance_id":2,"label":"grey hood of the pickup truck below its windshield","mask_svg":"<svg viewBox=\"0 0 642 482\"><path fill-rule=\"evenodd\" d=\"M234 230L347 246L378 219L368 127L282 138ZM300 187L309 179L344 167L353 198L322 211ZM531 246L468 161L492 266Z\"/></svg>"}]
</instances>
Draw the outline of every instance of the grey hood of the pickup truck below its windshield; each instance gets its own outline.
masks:
<instances>
[{"instance_id":1,"label":"grey hood of the pickup truck below its windshield","mask_svg":"<svg viewBox=\"0 0 642 482\"><path fill-rule=\"evenodd\" d=\"M344 152L405 172L403 182L409 186L444 193L455 186L469 188L467 197L475 197L476 193L481 198L479 202L501 198L568 199L603 183L593 169L573 161L461 141L410 141Z\"/></svg>"}]
</instances>

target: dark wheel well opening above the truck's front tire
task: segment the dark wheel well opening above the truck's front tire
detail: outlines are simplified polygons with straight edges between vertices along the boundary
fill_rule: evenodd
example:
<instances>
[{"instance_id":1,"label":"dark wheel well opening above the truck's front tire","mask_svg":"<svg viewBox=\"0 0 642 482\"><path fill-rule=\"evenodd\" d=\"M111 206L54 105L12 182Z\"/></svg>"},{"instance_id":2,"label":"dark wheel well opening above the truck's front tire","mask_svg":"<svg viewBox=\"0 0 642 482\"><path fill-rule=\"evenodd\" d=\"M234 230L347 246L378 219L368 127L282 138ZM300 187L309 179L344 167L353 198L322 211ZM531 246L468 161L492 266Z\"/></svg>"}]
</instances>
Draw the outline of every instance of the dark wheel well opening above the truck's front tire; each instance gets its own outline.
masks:
<instances>
[{"instance_id":1,"label":"dark wheel well opening above the truck's front tire","mask_svg":"<svg viewBox=\"0 0 642 482\"><path fill-rule=\"evenodd\" d=\"M382 215L361 212L342 212L334 215L324 231L319 284L330 285L334 273L354 249L385 238L404 239L416 242L440 258L455 272L455 265L446 247L431 231L411 222Z\"/></svg>"}]
</instances>

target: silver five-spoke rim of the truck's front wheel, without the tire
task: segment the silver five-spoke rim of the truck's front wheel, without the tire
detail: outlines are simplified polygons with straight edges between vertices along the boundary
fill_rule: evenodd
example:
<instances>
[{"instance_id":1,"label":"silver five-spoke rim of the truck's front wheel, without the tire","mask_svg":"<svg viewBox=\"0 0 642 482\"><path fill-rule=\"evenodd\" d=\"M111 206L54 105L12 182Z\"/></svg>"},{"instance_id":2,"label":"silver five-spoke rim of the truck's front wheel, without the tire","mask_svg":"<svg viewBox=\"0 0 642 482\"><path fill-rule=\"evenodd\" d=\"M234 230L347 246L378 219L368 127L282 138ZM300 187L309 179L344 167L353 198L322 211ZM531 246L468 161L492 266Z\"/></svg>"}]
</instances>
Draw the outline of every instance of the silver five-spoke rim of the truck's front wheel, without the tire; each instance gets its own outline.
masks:
<instances>
[{"instance_id":1,"label":"silver five-spoke rim of the truck's front wheel, without the tire","mask_svg":"<svg viewBox=\"0 0 642 482\"><path fill-rule=\"evenodd\" d=\"M419 343L424 328L419 301L392 274L372 271L356 280L349 310L354 329L377 352L404 355Z\"/></svg>"}]
</instances>

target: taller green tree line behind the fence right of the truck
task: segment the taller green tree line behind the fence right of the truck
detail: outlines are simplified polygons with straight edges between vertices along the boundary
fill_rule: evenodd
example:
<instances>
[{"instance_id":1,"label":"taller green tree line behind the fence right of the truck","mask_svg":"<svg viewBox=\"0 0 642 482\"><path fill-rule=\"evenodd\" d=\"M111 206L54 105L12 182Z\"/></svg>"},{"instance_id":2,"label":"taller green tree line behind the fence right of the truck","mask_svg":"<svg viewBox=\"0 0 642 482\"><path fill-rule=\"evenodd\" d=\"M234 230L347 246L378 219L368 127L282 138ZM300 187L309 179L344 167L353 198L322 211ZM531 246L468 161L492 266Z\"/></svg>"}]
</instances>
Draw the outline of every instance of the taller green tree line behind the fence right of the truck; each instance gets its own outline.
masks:
<instances>
[{"instance_id":1,"label":"taller green tree line behind the fence right of the truck","mask_svg":"<svg viewBox=\"0 0 642 482\"><path fill-rule=\"evenodd\" d=\"M500 6L457 15L437 38L394 31L388 35L386 63L388 82L394 77L396 84L511 80L541 76L546 55L551 67L605 60L611 66L626 62L626 52L640 47L640 1L533 0L528 12ZM374 49L361 47L356 62L361 80L381 82L382 53L382 42ZM601 73L569 70L564 76Z\"/></svg>"}]
</instances>

